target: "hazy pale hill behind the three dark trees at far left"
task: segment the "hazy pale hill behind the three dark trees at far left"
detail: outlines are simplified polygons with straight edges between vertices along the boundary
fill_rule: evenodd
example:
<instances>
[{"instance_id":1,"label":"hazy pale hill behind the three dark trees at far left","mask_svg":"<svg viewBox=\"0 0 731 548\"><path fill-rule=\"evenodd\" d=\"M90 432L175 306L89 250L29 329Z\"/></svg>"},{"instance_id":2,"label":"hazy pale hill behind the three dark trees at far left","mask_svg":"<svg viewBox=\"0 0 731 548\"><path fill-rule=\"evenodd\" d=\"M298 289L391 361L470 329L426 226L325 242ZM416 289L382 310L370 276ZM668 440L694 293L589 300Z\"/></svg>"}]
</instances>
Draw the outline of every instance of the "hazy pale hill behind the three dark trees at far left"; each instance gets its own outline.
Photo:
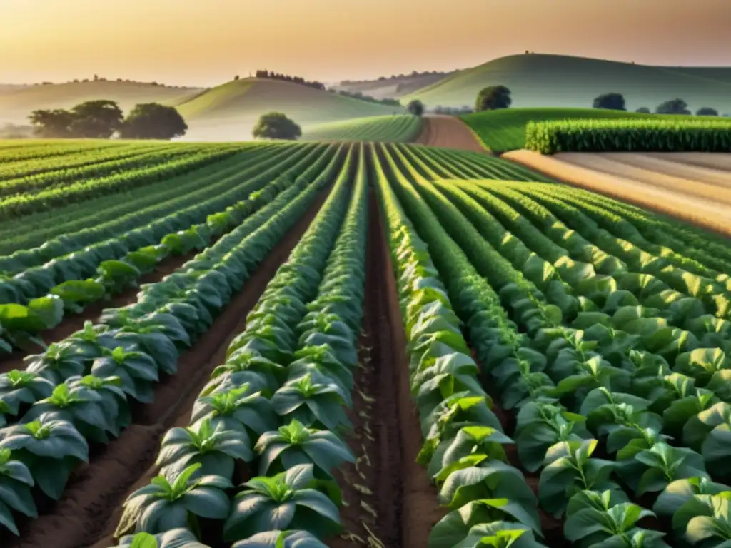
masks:
<instances>
[{"instance_id":1,"label":"hazy pale hill behind the three dark trees at far left","mask_svg":"<svg viewBox=\"0 0 731 548\"><path fill-rule=\"evenodd\" d=\"M31 110L70 108L91 99L116 101L126 112L137 103L177 104L200 91L197 88L112 80L7 88L0 92L0 124L27 123Z\"/></svg>"}]
</instances>

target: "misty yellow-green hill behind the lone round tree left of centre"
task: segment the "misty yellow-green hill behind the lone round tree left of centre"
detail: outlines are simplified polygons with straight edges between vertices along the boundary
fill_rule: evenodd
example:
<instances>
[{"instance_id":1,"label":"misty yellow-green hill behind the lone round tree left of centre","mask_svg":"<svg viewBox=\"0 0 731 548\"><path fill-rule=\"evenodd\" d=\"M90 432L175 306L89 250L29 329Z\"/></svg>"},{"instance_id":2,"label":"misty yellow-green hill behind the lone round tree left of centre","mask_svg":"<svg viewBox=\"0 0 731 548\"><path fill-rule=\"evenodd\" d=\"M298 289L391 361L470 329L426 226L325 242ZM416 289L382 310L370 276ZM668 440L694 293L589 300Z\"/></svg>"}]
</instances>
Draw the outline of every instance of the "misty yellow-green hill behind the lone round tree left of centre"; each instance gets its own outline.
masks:
<instances>
[{"instance_id":1,"label":"misty yellow-green hill behind the lone round tree left of centre","mask_svg":"<svg viewBox=\"0 0 731 548\"><path fill-rule=\"evenodd\" d=\"M234 80L178 104L189 126L185 140L249 140L260 115L273 110L292 118L303 131L321 123L400 113L398 107L266 78Z\"/></svg>"}]
</instances>

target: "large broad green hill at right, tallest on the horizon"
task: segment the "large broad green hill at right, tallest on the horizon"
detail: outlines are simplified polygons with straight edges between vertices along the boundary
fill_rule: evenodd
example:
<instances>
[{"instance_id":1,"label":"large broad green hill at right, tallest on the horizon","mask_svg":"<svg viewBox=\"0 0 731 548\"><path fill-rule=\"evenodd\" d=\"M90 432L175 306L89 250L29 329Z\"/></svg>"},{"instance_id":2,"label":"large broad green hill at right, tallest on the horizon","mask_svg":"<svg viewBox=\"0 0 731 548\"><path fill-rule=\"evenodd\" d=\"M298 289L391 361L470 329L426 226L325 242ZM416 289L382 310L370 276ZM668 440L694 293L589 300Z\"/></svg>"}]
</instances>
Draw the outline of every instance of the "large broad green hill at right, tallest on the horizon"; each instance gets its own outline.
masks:
<instances>
[{"instance_id":1,"label":"large broad green hill at right, tallest on the horizon","mask_svg":"<svg viewBox=\"0 0 731 548\"><path fill-rule=\"evenodd\" d=\"M684 99L693 111L713 107L731 113L731 68L661 67L619 61L531 53L489 61L456 72L401 98L428 107L472 105L480 89L507 85L513 107L591 107L600 94L624 94L628 110L651 110Z\"/></svg>"}]
</instances>

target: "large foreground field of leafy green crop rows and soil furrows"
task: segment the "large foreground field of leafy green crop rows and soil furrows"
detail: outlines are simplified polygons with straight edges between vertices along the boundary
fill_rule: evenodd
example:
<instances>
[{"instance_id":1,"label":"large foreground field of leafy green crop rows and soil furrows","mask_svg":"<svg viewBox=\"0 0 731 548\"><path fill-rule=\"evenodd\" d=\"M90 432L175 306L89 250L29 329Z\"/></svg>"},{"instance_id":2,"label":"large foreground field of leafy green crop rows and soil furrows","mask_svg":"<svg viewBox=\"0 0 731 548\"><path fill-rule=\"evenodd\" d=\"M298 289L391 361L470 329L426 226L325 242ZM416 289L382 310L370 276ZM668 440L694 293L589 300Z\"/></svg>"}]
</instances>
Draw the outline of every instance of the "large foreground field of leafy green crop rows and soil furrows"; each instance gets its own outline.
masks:
<instances>
[{"instance_id":1,"label":"large foreground field of leafy green crop rows and soil furrows","mask_svg":"<svg viewBox=\"0 0 731 548\"><path fill-rule=\"evenodd\" d=\"M3 548L731 541L727 238L395 142L0 142L0 211Z\"/></svg>"}]
</instances>

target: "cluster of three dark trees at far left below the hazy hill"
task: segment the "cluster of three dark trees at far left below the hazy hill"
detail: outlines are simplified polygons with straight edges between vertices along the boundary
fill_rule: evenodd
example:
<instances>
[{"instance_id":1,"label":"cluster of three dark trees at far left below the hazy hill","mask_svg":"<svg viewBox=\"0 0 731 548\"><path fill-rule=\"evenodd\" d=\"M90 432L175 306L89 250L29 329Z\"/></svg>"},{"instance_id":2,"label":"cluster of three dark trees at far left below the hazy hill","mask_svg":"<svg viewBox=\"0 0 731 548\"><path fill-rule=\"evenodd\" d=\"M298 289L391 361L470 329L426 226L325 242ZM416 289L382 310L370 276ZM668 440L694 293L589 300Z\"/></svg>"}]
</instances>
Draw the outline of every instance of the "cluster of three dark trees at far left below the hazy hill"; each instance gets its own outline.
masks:
<instances>
[{"instance_id":1,"label":"cluster of three dark trees at far left below the hazy hill","mask_svg":"<svg viewBox=\"0 0 731 548\"><path fill-rule=\"evenodd\" d=\"M188 130L173 107L158 103L137 104L126 118L114 101L96 99L75 107L34 110L29 115L37 137L47 139L162 139L182 137Z\"/></svg>"}]
</instances>

